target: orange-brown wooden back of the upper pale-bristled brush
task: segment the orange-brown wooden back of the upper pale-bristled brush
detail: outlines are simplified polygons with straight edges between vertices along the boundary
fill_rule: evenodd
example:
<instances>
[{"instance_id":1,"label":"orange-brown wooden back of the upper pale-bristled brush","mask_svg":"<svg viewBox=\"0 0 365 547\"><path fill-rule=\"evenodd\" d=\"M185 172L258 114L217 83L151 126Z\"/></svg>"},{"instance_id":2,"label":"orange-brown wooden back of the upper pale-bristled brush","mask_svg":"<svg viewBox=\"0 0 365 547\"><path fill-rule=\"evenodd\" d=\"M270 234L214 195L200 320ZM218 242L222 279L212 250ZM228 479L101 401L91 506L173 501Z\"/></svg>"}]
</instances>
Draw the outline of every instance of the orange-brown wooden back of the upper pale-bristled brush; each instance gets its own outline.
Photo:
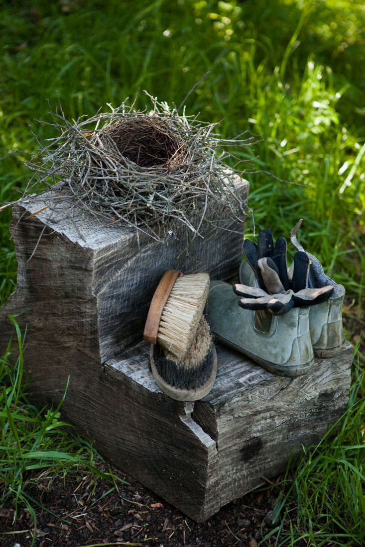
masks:
<instances>
[{"instance_id":1,"label":"orange-brown wooden back of the upper pale-bristled brush","mask_svg":"<svg viewBox=\"0 0 365 547\"><path fill-rule=\"evenodd\" d=\"M163 274L155 290L143 333L143 339L150 342L150 344L156 344L157 342L158 325L162 311L179 274L179 270L168 270Z\"/></svg>"}]
</instances>

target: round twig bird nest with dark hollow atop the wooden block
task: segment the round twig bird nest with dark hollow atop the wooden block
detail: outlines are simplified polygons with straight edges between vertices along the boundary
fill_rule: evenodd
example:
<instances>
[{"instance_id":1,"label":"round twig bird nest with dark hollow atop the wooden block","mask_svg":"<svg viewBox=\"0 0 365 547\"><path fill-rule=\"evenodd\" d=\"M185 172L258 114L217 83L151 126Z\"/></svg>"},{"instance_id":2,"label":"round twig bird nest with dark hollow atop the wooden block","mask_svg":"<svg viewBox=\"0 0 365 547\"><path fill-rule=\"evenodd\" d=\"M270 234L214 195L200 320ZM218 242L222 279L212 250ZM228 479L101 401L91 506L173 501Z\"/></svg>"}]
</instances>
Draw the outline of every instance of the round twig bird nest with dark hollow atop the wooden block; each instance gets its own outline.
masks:
<instances>
[{"instance_id":1,"label":"round twig bird nest with dark hollow atop the wooden block","mask_svg":"<svg viewBox=\"0 0 365 547\"><path fill-rule=\"evenodd\" d=\"M219 210L217 229L225 229L232 219L242 221L246 204L235 192L225 162L233 158L237 166L227 149L247 146L252 138L222 139L215 132L218 124L187 117L185 110L180 115L148 96L150 111L124 101L110 107L111 112L73 123L62 110L53 113L51 125L59 135L47 147L39 143L26 162L33 176L24 197L33 194L35 199L35 190L58 182L66 190L60 195L75 196L94 216L158 241L166 241L181 225L202 235L204 221L213 222L208 210Z\"/></svg>"}]
</instances>

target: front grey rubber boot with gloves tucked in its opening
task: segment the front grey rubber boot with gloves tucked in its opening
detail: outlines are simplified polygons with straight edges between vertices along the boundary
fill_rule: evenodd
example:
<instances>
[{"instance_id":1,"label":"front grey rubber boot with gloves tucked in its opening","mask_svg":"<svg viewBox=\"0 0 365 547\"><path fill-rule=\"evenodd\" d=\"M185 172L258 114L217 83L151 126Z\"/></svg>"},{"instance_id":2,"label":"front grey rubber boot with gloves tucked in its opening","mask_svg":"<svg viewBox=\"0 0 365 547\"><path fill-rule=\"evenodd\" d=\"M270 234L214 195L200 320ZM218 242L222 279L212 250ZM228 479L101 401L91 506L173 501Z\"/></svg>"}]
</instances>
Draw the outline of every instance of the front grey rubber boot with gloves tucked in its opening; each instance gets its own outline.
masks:
<instances>
[{"instance_id":1,"label":"front grey rubber boot with gloves tucked in its opening","mask_svg":"<svg viewBox=\"0 0 365 547\"><path fill-rule=\"evenodd\" d=\"M281 316L266 310L245 310L239 296L223 281L211 281L207 321L216 339L244 353L272 374L300 376L313 363L309 307Z\"/></svg>"}]
</instances>

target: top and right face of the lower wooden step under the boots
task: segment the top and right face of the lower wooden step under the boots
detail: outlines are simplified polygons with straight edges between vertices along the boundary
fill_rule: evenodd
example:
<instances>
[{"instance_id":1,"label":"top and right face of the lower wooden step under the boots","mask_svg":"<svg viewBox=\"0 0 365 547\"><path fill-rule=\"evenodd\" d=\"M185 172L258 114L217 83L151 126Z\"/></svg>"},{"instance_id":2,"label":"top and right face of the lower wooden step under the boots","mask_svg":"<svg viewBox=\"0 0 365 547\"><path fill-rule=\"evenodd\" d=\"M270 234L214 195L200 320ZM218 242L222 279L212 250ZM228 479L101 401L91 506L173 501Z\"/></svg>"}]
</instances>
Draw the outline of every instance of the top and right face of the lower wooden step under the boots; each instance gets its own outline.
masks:
<instances>
[{"instance_id":1,"label":"top and right face of the lower wooden step under the boots","mask_svg":"<svg viewBox=\"0 0 365 547\"><path fill-rule=\"evenodd\" d=\"M316 359L309 374L274 376L223 346L212 391L197 401L193 419L217 444L221 504L284 469L301 445L317 443L346 409L352 347Z\"/></svg>"}]
</instances>

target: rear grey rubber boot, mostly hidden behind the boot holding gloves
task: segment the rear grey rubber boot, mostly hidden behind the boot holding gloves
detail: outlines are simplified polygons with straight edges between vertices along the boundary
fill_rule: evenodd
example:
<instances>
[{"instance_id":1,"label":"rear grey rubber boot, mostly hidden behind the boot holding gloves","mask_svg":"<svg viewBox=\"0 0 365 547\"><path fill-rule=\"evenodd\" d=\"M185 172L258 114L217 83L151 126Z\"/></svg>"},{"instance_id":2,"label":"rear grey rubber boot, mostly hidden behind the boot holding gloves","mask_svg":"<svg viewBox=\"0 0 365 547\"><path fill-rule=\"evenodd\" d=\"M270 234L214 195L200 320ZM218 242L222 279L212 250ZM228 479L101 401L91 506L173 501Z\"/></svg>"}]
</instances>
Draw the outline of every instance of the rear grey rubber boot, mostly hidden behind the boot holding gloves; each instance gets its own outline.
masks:
<instances>
[{"instance_id":1,"label":"rear grey rubber boot, mostly hidden behind the boot holding gloves","mask_svg":"<svg viewBox=\"0 0 365 547\"><path fill-rule=\"evenodd\" d=\"M342 325L342 305L345 298L345 289L335 283L323 272L321 263L312 254L307 253L316 267L316 284L333 285L334 290L329 300L311 306L309 310L309 329L311 334L313 351L316 357L333 357L342 351L345 343L344 329ZM292 267L289 268L289 277ZM319 281L321 280L321 282ZM244 260L239 266L239 282L250 287L259 287L258 280L248 264Z\"/></svg>"}]
</instances>

